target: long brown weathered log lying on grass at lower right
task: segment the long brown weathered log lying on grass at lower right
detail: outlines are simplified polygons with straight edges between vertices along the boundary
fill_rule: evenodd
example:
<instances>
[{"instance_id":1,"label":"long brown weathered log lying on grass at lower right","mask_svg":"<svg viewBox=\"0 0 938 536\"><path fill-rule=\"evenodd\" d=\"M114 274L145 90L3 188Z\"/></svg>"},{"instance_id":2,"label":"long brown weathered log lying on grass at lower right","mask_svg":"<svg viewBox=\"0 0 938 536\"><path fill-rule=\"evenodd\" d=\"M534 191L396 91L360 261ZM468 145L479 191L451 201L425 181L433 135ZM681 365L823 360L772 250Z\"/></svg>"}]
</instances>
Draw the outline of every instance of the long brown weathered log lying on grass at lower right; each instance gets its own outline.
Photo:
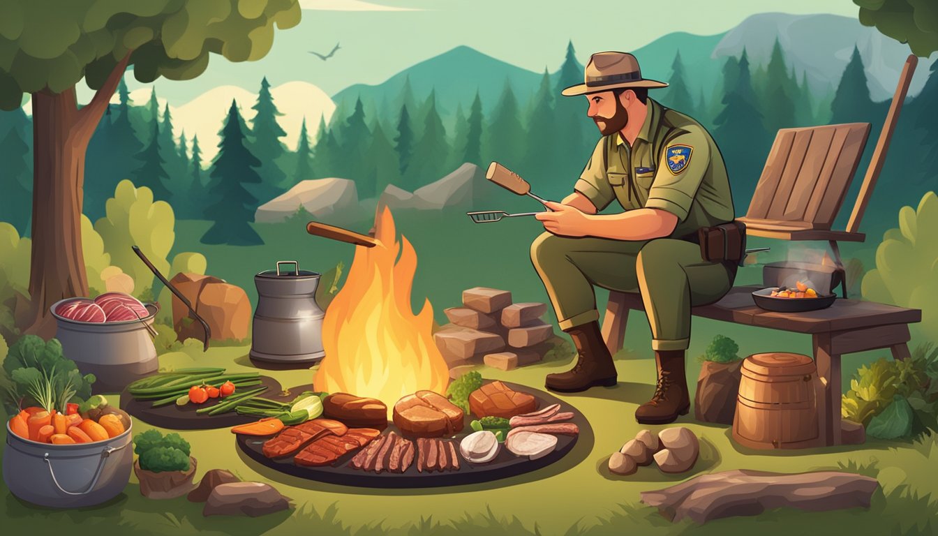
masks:
<instances>
[{"instance_id":1,"label":"long brown weathered log lying on grass at lower right","mask_svg":"<svg viewBox=\"0 0 938 536\"><path fill-rule=\"evenodd\" d=\"M690 518L704 523L781 507L809 512L870 508L870 498L878 487L876 479L853 473L781 474L743 469L700 475L662 490L646 491L642 502L658 508L673 522Z\"/></svg>"}]
</instances>

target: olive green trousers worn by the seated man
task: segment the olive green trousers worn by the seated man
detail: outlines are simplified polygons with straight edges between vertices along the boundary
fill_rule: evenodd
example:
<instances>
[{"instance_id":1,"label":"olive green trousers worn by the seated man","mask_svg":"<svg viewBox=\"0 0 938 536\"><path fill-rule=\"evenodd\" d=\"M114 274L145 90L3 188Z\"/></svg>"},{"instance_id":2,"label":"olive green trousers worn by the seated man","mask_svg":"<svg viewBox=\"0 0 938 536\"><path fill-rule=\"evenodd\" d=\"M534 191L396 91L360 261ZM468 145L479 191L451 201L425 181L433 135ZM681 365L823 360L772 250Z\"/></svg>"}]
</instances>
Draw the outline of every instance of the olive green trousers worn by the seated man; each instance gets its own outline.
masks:
<instances>
[{"instance_id":1,"label":"olive green trousers worn by the seated man","mask_svg":"<svg viewBox=\"0 0 938 536\"><path fill-rule=\"evenodd\" d=\"M700 246L674 238L641 242L544 233L531 244L531 262L560 329L599 319L593 285L641 293L655 350L686 350L690 308L722 298L736 275L732 263L704 261Z\"/></svg>"}]
</instances>

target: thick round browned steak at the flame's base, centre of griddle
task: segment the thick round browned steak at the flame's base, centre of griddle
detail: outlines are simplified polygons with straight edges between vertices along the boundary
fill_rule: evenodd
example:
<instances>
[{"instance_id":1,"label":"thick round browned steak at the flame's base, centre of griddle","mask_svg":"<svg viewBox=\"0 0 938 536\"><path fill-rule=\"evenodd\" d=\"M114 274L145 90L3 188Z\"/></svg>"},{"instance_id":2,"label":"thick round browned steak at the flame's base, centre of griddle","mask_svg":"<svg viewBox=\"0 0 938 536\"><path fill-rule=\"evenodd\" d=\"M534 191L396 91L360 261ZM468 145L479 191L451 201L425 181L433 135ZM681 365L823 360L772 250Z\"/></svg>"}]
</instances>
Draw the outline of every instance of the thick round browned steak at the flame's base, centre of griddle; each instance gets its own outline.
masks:
<instances>
[{"instance_id":1,"label":"thick round browned steak at the flame's base, centre of griddle","mask_svg":"<svg viewBox=\"0 0 938 536\"><path fill-rule=\"evenodd\" d=\"M405 436L452 436L462 430L462 410L433 391L417 391L394 405L394 423Z\"/></svg>"}]
</instances>

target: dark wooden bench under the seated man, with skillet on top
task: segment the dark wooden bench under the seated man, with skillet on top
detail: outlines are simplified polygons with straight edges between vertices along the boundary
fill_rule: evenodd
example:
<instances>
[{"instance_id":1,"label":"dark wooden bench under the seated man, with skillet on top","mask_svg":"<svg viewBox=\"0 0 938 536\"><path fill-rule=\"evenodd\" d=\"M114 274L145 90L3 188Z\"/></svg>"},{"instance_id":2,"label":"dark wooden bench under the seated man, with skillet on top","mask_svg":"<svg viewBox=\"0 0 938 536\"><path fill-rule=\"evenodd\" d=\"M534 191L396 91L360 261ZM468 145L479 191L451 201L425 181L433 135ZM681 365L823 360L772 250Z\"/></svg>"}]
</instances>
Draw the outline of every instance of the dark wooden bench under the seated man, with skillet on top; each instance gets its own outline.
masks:
<instances>
[{"instance_id":1,"label":"dark wooden bench under the seated man, with skillet on top","mask_svg":"<svg viewBox=\"0 0 938 536\"><path fill-rule=\"evenodd\" d=\"M823 446L840 445L840 356L889 348L893 359L908 358L908 324L921 322L921 310L872 301L837 299L833 305L820 311L773 313L757 307L752 301L752 292L760 288L734 287L718 302L694 307L691 312L713 320L809 334L821 378L818 396L821 443ZM602 332L613 353L622 348L629 309L644 309L639 294L610 292ZM764 351L770 349L765 348Z\"/></svg>"}]
</instances>

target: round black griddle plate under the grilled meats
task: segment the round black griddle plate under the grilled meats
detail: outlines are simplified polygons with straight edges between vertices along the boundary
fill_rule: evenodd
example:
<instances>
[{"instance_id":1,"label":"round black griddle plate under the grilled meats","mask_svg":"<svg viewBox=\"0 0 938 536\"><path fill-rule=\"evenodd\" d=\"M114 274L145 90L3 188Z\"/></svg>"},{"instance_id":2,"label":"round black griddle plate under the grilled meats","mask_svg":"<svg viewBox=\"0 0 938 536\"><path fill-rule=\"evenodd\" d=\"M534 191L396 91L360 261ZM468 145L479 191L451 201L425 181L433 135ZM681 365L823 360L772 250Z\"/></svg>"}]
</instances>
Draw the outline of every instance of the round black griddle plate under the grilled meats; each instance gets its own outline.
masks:
<instances>
[{"instance_id":1,"label":"round black griddle plate under the grilled meats","mask_svg":"<svg viewBox=\"0 0 938 536\"><path fill-rule=\"evenodd\" d=\"M418 471L417 464L414 463L407 467L402 473L363 471L351 467L351 461L357 452L349 452L340 457L334 464L325 467L304 467L296 465L292 456L280 459L268 458L264 454L264 443L269 437L237 436L236 442L239 449L247 454L255 462L270 467L281 473L292 475L299 478L309 479L315 482L326 482L339 485L371 487L371 488L417 488L417 487L440 487L471 484L479 482L492 482L529 473L537 469L551 466L560 461L564 456L571 452L577 444L580 435L592 437L592 429L589 422L583 417L582 413L575 407L570 406L566 401L552 396L545 391L529 388L519 384L505 382L505 384L514 391L524 392L533 395L537 399L537 407L543 408L553 404L559 404L563 411L573 413L573 418L567 422L577 425L579 434L576 436L557 436L556 448L545 456L537 459L529 459L528 456L518 456L508 452L505 445L499 447L499 452L495 458L486 464L473 464L459 456L459 469L439 471ZM290 391L307 391L311 386L302 386L292 388ZM464 428L462 432L454 436L454 441L459 441L471 434L469 422L476 419L474 416L464 417ZM388 424L383 436L395 433L399 434L399 429L394 424Z\"/></svg>"}]
</instances>

